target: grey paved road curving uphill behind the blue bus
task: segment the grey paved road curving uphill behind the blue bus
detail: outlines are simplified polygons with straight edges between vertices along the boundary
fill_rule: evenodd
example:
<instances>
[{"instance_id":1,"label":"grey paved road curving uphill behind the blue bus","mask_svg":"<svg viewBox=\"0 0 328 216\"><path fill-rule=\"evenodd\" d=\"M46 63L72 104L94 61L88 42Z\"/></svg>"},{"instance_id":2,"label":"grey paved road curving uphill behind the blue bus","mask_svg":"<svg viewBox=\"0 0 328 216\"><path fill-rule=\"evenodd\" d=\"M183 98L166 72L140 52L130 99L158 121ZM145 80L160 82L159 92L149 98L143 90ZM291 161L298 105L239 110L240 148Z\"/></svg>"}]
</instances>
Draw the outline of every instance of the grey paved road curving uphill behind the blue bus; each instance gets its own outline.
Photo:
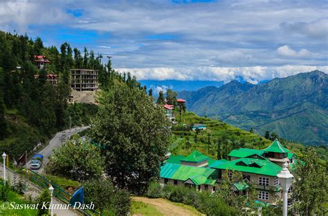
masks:
<instances>
[{"instance_id":1,"label":"grey paved road curving uphill behind the blue bus","mask_svg":"<svg viewBox=\"0 0 328 216\"><path fill-rule=\"evenodd\" d=\"M37 173L42 173L44 171L44 166L48 163L49 157L53 155L53 149L61 146L66 139L69 139L72 135L74 135L77 132L81 132L82 130L85 130L89 128L89 126L85 127L79 127L79 128L71 128L68 130L63 130L61 132L57 132L55 137L51 139L48 146L46 148L42 149L38 154L44 155L44 164L42 165L42 168L39 170L34 170ZM30 168L30 161L28 161L28 168Z\"/></svg>"}]
</instances>

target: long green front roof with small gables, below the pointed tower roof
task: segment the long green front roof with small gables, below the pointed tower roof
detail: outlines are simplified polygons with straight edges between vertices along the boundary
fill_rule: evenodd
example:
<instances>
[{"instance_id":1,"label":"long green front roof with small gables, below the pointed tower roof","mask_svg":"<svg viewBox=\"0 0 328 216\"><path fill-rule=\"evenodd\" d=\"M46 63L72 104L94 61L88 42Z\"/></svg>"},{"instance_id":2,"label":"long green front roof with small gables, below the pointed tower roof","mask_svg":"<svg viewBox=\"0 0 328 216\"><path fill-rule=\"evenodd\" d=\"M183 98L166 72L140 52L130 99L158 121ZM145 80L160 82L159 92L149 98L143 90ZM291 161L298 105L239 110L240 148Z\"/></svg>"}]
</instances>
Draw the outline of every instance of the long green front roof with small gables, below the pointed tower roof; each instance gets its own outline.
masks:
<instances>
[{"instance_id":1,"label":"long green front roof with small gables, below the pointed tower roof","mask_svg":"<svg viewBox=\"0 0 328 216\"><path fill-rule=\"evenodd\" d=\"M224 164L212 166L221 170L235 170L244 173L277 176L282 168L268 159L239 158Z\"/></svg>"}]
</instances>

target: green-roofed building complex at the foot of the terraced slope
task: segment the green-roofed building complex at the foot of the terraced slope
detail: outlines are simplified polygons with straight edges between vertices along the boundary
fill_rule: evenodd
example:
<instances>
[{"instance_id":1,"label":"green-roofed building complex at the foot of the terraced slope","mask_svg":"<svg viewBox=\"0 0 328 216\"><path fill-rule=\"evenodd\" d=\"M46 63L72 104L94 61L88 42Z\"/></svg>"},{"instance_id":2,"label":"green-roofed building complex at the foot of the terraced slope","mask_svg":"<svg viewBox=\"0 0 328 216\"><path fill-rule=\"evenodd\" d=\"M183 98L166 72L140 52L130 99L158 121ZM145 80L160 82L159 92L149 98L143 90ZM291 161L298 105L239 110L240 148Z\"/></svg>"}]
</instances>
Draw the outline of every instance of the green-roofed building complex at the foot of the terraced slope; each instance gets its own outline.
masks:
<instances>
[{"instance_id":1,"label":"green-roofed building complex at the foot of the terraced slope","mask_svg":"<svg viewBox=\"0 0 328 216\"><path fill-rule=\"evenodd\" d=\"M282 170L282 164L289 164L293 170L298 160L296 155L284 148L280 141L262 150L239 148L232 150L226 159L211 159L194 150L187 157L171 155L161 166L161 184L184 185L197 190L215 192L224 176L233 179L233 173L242 173L231 186L237 194L246 195L250 184L257 190L257 199L266 204L276 204L282 196L280 181L277 174ZM293 190L292 187L290 190Z\"/></svg>"}]
</instances>

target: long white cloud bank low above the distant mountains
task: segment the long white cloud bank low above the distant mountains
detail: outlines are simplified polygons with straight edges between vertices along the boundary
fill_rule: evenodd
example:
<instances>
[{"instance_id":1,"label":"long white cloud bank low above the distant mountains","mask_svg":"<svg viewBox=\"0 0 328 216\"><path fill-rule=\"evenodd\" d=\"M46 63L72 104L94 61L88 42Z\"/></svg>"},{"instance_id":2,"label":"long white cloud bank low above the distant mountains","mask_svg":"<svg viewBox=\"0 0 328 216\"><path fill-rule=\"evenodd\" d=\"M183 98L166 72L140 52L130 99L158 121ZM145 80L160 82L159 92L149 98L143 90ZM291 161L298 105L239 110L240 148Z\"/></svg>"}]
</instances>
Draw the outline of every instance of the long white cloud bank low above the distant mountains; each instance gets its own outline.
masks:
<instances>
[{"instance_id":1,"label":"long white cloud bank low above the distant mountains","mask_svg":"<svg viewBox=\"0 0 328 216\"><path fill-rule=\"evenodd\" d=\"M225 81L244 77L250 83L276 77L288 77L299 72L321 70L328 73L328 66L253 66L253 67L198 67L198 68L116 68L118 72L131 72L139 80L176 79L176 80L212 80ZM160 86L161 90L165 89ZM159 89L159 88L158 88Z\"/></svg>"}]
</instances>

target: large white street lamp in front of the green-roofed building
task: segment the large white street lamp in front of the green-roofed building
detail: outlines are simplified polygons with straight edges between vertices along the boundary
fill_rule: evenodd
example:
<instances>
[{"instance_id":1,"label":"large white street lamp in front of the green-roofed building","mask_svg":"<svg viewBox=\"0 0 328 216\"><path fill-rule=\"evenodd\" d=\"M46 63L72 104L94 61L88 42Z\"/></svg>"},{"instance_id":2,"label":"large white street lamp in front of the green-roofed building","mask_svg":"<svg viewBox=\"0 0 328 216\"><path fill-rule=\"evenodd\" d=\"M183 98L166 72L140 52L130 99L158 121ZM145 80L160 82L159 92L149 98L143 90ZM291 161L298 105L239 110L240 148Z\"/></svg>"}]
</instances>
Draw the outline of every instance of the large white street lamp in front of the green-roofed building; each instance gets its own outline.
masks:
<instances>
[{"instance_id":1,"label":"large white street lamp in front of the green-roofed building","mask_svg":"<svg viewBox=\"0 0 328 216\"><path fill-rule=\"evenodd\" d=\"M289 173L287 168L287 162L282 166L282 170L278 173L277 177L279 178L280 185L282 186L282 215L287 216L287 200L288 200L288 190L291 186L291 179L293 175Z\"/></svg>"}]
</instances>

